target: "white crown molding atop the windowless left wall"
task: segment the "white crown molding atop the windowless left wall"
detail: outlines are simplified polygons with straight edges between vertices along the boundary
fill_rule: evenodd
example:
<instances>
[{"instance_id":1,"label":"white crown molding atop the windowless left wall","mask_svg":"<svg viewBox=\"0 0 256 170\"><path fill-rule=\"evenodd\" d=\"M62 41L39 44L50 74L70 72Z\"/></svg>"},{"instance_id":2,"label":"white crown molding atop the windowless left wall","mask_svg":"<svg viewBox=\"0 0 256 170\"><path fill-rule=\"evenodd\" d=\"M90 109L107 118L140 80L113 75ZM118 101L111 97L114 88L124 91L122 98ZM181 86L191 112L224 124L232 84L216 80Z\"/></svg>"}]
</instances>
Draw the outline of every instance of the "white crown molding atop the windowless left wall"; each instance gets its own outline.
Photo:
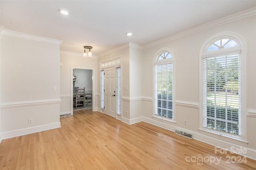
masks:
<instances>
[{"instance_id":1,"label":"white crown molding atop the windowless left wall","mask_svg":"<svg viewBox=\"0 0 256 170\"><path fill-rule=\"evenodd\" d=\"M12 37L32 39L32 40L36 40L36 41L42 41L42 42L46 42L46 43L54 43L54 44L58 44L58 45L60 45L60 43L62 43L61 40L40 37L40 36L36 36L36 35L30 35L30 34L26 34L26 33L20 33L20 32L16 32L16 31L10 31L7 29L2 30L1 35L8 35L8 36L12 36Z\"/></svg>"}]
</instances>

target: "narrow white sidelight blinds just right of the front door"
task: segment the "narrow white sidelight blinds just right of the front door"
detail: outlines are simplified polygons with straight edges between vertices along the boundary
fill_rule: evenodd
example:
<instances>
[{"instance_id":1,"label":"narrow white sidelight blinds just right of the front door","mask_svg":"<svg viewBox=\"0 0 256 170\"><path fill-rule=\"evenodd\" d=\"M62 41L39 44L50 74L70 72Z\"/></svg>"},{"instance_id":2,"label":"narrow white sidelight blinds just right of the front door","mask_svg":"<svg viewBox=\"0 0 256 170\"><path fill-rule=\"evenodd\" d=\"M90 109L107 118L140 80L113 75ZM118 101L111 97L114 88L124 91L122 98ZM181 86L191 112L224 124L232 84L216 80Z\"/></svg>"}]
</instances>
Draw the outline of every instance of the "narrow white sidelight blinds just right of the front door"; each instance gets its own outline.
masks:
<instances>
[{"instance_id":1,"label":"narrow white sidelight blinds just right of the front door","mask_svg":"<svg viewBox=\"0 0 256 170\"><path fill-rule=\"evenodd\" d=\"M121 114L121 69L116 68L116 114Z\"/></svg>"}]
</instances>

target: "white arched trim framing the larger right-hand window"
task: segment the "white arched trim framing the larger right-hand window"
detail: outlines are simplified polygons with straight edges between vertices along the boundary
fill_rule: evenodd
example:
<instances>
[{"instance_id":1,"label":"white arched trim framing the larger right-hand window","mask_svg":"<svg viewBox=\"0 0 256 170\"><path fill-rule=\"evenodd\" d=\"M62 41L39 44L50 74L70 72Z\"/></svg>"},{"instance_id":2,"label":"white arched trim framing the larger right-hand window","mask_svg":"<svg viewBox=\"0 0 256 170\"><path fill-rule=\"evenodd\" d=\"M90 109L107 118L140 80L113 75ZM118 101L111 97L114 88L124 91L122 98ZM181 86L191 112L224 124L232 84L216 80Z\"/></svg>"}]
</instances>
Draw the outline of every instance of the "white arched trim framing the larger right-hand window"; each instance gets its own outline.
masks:
<instances>
[{"instance_id":1,"label":"white arched trim framing the larger right-hand window","mask_svg":"<svg viewBox=\"0 0 256 170\"><path fill-rule=\"evenodd\" d=\"M222 38L230 38L234 39L238 46L234 47L227 47L224 49L218 49L218 50L212 50L207 51L208 47L217 41L218 39ZM215 52L215 53L214 53ZM203 74L203 68L202 68L202 62L204 57L210 57L210 56L218 56L218 55L226 55L231 53L240 53L241 56L241 136L237 137L231 134L224 134L218 131L211 131L210 129L204 128L203 124L203 81L202 81L202 74ZM202 44L202 47L200 49L199 53L199 66L200 66L200 76L199 76L199 92L200 92L200 98L199 98L199 132L208 135L211 137L217 137L218 139L226 140L226 138L234 139L232 140L232 143L241 144L244 143L244 145L247 145L247 127L246 127L246 41L242 38L241 35L238 33L225 31L221 33L217 33L215 35L212 35L206 41Z\"/></svg>"}]
</instances>

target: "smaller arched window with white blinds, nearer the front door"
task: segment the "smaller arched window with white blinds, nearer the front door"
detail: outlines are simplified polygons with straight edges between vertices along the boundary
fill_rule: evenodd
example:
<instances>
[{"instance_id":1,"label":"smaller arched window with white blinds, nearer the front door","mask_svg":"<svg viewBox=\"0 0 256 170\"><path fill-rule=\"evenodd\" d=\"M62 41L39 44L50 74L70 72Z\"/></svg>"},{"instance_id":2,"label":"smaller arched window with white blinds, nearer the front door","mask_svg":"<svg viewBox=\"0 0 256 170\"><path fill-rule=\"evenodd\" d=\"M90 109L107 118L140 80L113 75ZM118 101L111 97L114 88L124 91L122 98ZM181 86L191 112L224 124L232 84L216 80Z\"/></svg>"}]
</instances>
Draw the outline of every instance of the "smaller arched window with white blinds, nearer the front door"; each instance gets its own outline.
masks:
<instances>
[{"instance_id":1,"label":"smaller arched window with white blinds, nearer the front door","mask_svg":"<svg viewBox=\"0 0 256 170\"><path fill-rule=\"evenodd\" d=\"M173 57L161 51L154 61L154 115L173 120Z\"/></svg>"}]
</instances>

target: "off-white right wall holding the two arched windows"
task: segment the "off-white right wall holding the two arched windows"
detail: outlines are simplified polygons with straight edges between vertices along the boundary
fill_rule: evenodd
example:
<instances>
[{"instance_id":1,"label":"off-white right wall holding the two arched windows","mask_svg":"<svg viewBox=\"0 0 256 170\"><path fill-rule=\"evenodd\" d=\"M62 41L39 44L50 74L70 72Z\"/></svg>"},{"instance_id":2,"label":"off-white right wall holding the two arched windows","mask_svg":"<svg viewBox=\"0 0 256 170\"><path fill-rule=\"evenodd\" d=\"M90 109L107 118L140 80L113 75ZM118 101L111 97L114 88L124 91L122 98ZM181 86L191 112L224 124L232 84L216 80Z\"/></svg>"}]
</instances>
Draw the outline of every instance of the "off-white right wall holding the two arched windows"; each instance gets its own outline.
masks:
<instances>
[{"instance_id":1,"label":"off-white right wall holding the two arched windows","mask_svg":"<svg viewBox=\"0 0 256 170\"><path fill-rule=\"evenodd\" d=\"M163 43L156 43L154 48L146 48L143 50L143 69L142 74L142 96L153 98L153 58L161 48L170 48L176 60L176 96L174 100L176 103L176 123L169 123L160 119L152 118L153 115L153 102L148 100L143 102L144 121L164 127L169 130L175 128L183 128L192 133L198 140L217 145L220 147L230 148L230 146L237 146L236 142L232 140L216 140L201 134L199 129L199 51L203 43L216 33L223 31L232 31L241 35L246 41L246 108L249 112L243 112L247 116L247 140L248 144L243 143L248 150L248 156L256 159L256 16L250 16L241 20L227 22L226 24L218 25L216 27L209 27L202 29L188 35L180 36L179 38L170 39ZM132 75L130 75L132 76ZM185 103L185 104L183 104ZM187 120L188 125L184 125L184 119ZM254 122L254 123L253 123ZM234 142L234 143L233 143ZM237 142L239 143L239 142ZM241 144L242 145L242 144ZM239 144L238 144L239 146Z\"/></svg>"}]
</instances>

